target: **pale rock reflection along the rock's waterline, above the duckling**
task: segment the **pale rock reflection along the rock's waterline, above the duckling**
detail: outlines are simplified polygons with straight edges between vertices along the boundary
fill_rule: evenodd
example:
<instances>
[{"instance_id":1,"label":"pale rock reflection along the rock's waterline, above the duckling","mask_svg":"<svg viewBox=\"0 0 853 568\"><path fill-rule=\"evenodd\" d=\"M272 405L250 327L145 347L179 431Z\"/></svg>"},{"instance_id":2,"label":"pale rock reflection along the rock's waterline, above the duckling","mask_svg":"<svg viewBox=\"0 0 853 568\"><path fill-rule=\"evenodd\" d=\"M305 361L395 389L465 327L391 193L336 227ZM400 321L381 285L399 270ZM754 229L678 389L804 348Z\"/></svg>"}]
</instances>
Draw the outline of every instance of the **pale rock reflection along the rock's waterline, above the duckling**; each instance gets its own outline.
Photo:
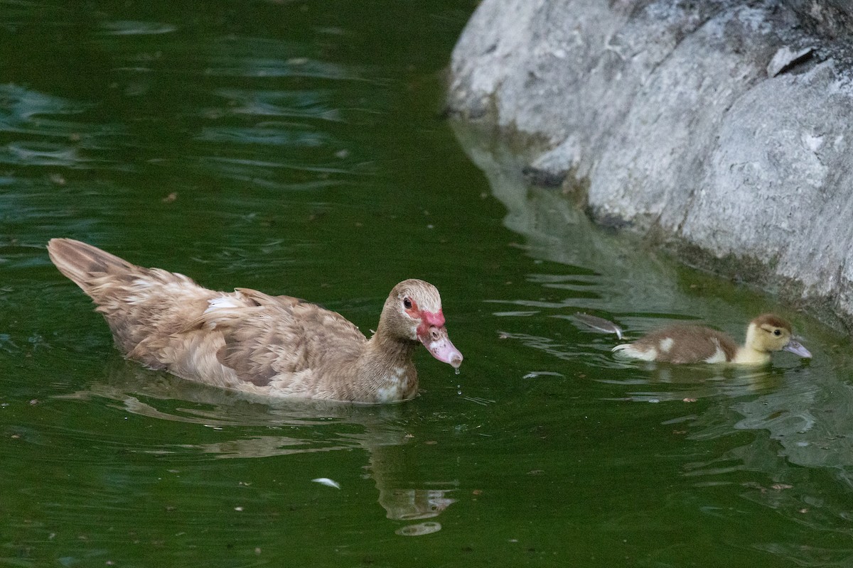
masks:
<instances>
[{"instance_id":1,"label":"pale rock reflection along the rock's waterline, above the duckling","mask_svg":"<svg viewBox=\"0 0 853 568\"><path fill-rule=\"evenodd\" d=\"M522 175L524 158L466 123L451 122L462 149L489 180L492 194L507 208L503 224L524 238L534 258L566 266L560 274L531 274L543 288L577 290L576 311L603 309L624 313L630 329L637 306L646 313L695 314L706 321L740 322L743 310L729 302L711 302L701 290L683 290L676 268L628 232L618 235L595 226L583 208L559 189L531 186ZM603 301L606 300L606 301ZM514 309L525 302L514 302ZM535 303L531 309L541 309ZM732 330L742 333L740 324Z\"/></svg>"}]
</instances>

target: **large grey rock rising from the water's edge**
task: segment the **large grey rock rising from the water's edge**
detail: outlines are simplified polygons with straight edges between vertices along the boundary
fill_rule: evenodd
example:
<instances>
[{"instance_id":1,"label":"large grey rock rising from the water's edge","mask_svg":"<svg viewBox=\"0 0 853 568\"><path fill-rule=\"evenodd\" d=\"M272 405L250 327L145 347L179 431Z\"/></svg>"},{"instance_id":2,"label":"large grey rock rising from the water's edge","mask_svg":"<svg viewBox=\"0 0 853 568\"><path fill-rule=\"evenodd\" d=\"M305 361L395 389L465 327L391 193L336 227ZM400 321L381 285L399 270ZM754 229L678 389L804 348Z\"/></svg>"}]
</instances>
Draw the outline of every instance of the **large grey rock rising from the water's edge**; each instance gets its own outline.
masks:
<instances>
[{"instance_id":1,"label":"large grey rock rising from the water's edge","mask_svg":"<svg viewBox=\"0 0 853 568\"><path fill-rule=\"evenodd\" d=\"M484 0L451 114L601 223L853 328L853 6Z\"/></svg>"}]
</instances>

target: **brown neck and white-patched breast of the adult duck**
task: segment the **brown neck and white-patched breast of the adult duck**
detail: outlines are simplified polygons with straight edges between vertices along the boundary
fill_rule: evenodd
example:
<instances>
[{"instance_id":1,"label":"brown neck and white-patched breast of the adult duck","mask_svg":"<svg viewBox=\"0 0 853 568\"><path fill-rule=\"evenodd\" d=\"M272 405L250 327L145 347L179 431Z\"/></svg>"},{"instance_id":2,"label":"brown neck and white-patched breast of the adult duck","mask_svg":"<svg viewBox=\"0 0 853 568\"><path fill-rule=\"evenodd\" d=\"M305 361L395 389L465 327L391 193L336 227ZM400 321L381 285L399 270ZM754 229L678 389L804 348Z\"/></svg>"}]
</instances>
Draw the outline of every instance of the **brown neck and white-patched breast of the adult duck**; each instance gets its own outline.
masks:
<instances>
[{"instance_id":1,"label":"brown neck and white-patched breast of the adult duck","mask_svg":"<svg viewBox=\"0 0 853 568\"><path fill-rule=\"evenodd\" d=\"M418 343L398 341L377 331L367 342L359 360L358 382L370 393L363 402L408 400L418 391L418 374L412 352Z\"/></svg>"}]
</instances>

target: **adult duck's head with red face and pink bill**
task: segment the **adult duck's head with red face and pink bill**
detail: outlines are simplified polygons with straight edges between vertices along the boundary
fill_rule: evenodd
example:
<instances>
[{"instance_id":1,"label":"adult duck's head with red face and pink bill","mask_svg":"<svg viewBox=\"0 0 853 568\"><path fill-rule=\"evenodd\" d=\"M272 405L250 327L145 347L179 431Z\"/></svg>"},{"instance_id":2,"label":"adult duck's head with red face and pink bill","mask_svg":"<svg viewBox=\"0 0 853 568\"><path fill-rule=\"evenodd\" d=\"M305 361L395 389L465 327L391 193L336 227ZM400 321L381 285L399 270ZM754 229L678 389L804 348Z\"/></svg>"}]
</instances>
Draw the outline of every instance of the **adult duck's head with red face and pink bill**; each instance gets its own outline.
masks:
<instances>
[{"instance_id":1,"label":"adult duck's head with red face and pink bill","mask_svg":"<svg viewBox=\"0 0 853 568\"><path fill-rule=\"evenodd\" d=\"M380 331L398 340L420 341L432 357L455 369L462 364L462 354L444 327L441 296L428 282L411 278L394 286L382 308Z\"/></svg>"}]
</instances>

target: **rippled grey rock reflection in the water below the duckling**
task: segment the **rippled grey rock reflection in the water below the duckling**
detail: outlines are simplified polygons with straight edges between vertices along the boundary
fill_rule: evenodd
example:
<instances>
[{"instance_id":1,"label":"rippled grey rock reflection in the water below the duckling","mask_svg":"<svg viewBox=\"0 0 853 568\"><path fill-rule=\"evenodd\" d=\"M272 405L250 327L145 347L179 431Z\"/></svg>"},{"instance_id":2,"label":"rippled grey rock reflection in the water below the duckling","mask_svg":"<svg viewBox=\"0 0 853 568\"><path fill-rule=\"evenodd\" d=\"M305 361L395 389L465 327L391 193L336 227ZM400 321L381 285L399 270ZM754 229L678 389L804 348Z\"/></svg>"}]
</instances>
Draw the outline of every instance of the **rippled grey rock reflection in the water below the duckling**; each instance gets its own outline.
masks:
<instances>
[{"instance_id":1,"label":"rippled grey rock reflection in the water below the duckling","mask_svg":"<svg viewBox=\"0 0 853 568\"><path fill-rule=\"evenodd\" d=\"M741 497L815 531L841 532L849 538L853 391L827 368L821 372L814 372L811 366L774 369L768 374L772 389L749 396L744 392L732 392L731 398L718 396L717 404L703 414L680 421L691 424L689 439L725 439L737 431L754 433L746 445L686 463L684 474L697 485L740 479ZM746 472L753 474L745 477ZM827 473L838 482L837 491L827 484ZM786 558L790 552L775 550ZM809 557L809 548L799 552L804 559ZM831 564L849 565L853 550L845 554L850 555Z\"/></svg>"}]
</instances>

